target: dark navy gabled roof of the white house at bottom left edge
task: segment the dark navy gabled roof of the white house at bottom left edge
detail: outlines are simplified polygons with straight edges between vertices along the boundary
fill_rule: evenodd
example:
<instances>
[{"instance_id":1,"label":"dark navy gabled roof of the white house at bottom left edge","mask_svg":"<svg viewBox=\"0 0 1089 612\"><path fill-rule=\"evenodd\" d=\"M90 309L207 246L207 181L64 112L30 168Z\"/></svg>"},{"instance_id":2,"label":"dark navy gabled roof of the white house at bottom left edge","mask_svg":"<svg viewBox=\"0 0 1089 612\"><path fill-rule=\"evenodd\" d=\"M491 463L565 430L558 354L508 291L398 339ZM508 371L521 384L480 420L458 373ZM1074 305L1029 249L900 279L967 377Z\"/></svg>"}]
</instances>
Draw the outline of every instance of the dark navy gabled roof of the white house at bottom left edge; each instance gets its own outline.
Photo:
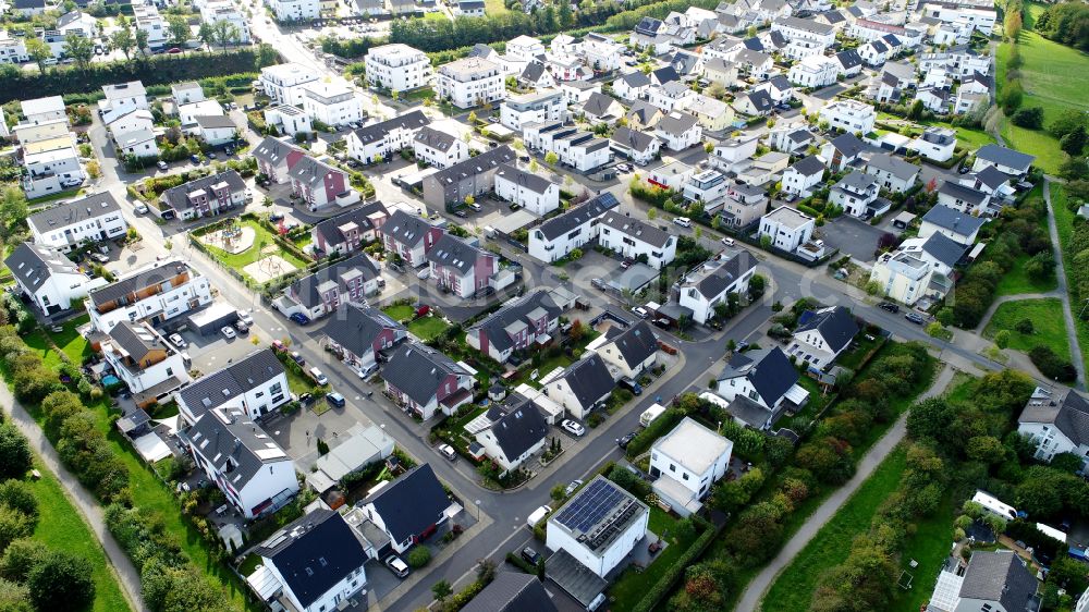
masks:
<instances>
[{"instance_id":1,"label":"dark navy gabled roof of the white house at bottom left edge","mask_svg":"<svg viewBox=\"0 0 1089 612\"><path fill-rule=\"evenodd\" d=\"M285 525L254 552L276 565L304 608L368 559L344 517L320 507Z\"/></svg>"}]
</instances>

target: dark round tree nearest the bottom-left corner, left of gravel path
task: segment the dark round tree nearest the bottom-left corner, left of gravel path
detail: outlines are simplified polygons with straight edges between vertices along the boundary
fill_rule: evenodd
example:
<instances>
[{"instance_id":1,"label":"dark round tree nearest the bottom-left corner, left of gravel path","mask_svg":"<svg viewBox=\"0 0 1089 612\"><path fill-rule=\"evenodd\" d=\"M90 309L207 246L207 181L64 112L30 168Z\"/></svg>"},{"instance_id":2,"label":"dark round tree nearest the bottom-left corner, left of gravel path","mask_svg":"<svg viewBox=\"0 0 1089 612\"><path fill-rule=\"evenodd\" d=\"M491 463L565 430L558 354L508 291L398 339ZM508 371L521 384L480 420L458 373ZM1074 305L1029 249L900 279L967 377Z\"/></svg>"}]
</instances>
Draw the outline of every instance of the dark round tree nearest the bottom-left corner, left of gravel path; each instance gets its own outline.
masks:
<instances>
[{"instance_id":1,"label":"dark round tree nearest the bottom-left corner, left of gravel path","mask_svg":"<svg viewBox=\"0 0 1089 612\"><path fill-rule=\"evenodd\" d=\"M90 562L63 550L52 550L26 576L30 601L38 610L83 610L95 599Z\"/></svg>"}]
</instances>

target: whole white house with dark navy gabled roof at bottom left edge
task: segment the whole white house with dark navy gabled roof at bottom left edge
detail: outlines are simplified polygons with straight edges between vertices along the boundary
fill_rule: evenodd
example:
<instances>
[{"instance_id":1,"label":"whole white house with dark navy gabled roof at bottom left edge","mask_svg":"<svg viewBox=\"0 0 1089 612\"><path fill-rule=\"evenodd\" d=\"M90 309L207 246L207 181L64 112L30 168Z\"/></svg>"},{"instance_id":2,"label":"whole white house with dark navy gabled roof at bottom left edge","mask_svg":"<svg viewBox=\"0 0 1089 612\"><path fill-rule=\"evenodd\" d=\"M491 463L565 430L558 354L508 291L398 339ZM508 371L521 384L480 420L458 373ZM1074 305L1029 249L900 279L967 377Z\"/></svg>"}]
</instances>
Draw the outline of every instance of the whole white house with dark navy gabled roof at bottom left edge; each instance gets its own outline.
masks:
<instances>
[{"instance_id":1,"label":"whole white house with dark navy gabled roof at bottom left edge","mask_svg":"<svg viewBox=\"0 0 1089 612\"><path fill-rule=\"evenodd\" d=\"M370 558L348 523L332 510L319 507L299 516L254 553L261 564L247 582L270 607L276 601L286 610L329 612L367 586L365 564Z\"/></svg>"}]
</instances>

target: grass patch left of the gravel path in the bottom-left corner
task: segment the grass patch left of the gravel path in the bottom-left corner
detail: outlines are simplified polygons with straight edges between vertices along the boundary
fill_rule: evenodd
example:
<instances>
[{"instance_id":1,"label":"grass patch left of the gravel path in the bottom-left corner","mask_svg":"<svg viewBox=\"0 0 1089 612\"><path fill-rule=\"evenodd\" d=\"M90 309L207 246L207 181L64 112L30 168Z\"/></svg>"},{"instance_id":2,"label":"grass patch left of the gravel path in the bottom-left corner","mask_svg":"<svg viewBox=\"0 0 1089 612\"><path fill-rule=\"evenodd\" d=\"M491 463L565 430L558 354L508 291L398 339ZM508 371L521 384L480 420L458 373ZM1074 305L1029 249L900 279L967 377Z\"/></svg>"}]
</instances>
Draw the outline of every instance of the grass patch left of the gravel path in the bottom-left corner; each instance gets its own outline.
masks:
<instances>
[{"instance_id":1,"label":"grass patch left of the gravel path in the bottom-left corner","mask_svg":"<svg viewBox=\"0 0 1089 612\"><path fill-rule=\"evenodd\" d=\"M83 515L69 501L57 476L37 458L35 467L41 473L41 478L27 480L38 500L38 526L34 529L34 539L49 548L65 550L90 561L95 577L95 604L90 610L131 610L129 600L109 566L106 552L91 534L90 527L84 523Z\"/></svg>"}]
</instances>

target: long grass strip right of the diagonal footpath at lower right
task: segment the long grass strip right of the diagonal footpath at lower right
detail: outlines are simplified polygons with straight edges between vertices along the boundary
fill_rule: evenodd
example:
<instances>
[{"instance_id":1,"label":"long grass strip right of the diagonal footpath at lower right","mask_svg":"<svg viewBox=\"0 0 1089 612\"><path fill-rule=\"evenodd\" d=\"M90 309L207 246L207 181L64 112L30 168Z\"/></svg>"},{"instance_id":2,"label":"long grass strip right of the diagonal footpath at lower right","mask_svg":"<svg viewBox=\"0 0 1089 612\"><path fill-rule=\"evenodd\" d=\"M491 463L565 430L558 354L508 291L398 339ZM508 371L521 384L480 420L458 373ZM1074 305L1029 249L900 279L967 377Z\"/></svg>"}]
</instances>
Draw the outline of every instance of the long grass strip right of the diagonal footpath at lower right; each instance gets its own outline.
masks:
<instances>
[{"instance_id":1,"label":"long grass strip right of the diagonal footpath at lower right","mask_svg":"<svg viewBox=\"0 0 1089 612\"><path fill-rule=\"evenodd\" d=\"M851 553L852 540L869 530L878 506L900 485L906 464L907 451L904 446L897 446L775 578L761 602L762 610L809 610L809 602L821 575L843 563Z\"/></svg>"}]
</instances>

